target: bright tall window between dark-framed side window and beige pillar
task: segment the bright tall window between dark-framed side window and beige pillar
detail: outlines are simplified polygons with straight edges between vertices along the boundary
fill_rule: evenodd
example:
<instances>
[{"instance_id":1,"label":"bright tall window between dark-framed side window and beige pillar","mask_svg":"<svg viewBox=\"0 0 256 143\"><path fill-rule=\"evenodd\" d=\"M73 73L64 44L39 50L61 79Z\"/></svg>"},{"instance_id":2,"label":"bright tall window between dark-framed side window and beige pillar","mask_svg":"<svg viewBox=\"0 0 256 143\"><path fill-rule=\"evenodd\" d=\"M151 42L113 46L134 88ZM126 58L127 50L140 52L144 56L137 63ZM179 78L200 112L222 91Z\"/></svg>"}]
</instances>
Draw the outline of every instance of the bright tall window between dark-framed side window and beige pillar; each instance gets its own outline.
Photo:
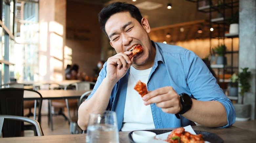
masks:
<instances>
[{"instance_id":1,"label":"bright tall window between dark-framed side window and beige pillar","mask_svg":"<svg viewBox=\"0 0 256 143\"><path fill-rule=\"evenodd\" d=\"M15 69L18 81L38 80L38 0L16 2Z\"/></svg>"}]
</instances>

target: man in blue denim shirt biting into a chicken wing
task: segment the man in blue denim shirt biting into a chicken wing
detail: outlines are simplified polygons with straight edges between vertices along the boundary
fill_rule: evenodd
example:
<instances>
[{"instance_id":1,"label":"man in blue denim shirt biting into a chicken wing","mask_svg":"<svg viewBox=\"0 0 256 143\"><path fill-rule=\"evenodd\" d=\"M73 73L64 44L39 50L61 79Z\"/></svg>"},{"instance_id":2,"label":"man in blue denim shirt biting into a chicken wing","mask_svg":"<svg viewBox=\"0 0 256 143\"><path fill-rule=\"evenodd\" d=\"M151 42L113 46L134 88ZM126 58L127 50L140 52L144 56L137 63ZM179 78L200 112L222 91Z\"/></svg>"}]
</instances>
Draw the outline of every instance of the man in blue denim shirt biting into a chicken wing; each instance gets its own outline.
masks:
<instances>
[{"instance_id":1,"label":"man in blue denim shirt biting into a chicken wing","mask_svg":"<svg viewBox=\"0 0 256 143\"><path fill-rule=\"evenodd\" d=\"M108 58L78 109L83 130L90 112L106 109L117 112L120 131L181 127L191 121L228 127L235 122L232 103L203 61L184 48L151 41L148 21L137 7L113 3L101 10L99 22L117 55ZM127 55L138 44L142 53L130 59ZM149 91L142 99L133 89L139 80Z\"/></svg>"}]
</instances>

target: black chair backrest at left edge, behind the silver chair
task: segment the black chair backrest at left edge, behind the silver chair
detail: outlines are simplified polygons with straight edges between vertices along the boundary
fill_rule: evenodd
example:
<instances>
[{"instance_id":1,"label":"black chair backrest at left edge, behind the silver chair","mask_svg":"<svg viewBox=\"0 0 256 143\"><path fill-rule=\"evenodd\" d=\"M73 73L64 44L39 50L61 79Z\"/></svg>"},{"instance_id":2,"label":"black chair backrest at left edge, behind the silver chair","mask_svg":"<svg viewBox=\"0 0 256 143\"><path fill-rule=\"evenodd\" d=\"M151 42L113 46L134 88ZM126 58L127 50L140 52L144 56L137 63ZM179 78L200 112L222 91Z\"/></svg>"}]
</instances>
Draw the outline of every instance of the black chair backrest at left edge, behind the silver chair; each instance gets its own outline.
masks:
<instances>
[{"instance_id":1,"label":"black chair backrest at left edge, behind the silver chair","mask_svg":"<svg viewBox=\"0 0 256 143\"><path fill-rule=\"evenodd\" d=\"M41 121L42 95L31 89L24 88L2 88L0 89L0 115L23 116L24 91L33 92L39 99L38 122ZM33 97L34 98L34 97ZM26 98L32 100L32 98ZM36 102L34 108L36 109ZM36 110L35 110L36 111ZM34 113L36 114L36 113ZM8 121L3 124L3 137L20 136L21 121Z\"/></svg>"}]
</instances>

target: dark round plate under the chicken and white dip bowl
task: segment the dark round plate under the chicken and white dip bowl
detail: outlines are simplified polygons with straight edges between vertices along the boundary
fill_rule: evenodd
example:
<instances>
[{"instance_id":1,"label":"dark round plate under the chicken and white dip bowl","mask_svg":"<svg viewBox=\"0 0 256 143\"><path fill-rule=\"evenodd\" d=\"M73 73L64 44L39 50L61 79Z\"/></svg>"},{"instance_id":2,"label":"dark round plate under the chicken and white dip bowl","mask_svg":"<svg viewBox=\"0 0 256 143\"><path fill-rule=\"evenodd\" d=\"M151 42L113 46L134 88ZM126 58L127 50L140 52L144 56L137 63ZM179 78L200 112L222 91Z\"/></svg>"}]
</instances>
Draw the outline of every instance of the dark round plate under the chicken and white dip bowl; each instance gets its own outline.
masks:
<instances>
[{"instance_id":1,"label":"dark round plate under the chicken and white dip bowl","mask_svg":"<svg viewBox=\"0 0 256 143\"><path fill-rule=\"evenodd\" d=\"M171 132L172 130L143 130L143 131L150 131L159 135L159 134ZM196 134L202 134L204 141L208 141L210 143L223 143L223 139L216 134L203 132L203 131L195 131L195 132ZM128 134L128 137L131 143L135 143L132 138L132 133L133 131Z\"/></svg>"}]
</instances>

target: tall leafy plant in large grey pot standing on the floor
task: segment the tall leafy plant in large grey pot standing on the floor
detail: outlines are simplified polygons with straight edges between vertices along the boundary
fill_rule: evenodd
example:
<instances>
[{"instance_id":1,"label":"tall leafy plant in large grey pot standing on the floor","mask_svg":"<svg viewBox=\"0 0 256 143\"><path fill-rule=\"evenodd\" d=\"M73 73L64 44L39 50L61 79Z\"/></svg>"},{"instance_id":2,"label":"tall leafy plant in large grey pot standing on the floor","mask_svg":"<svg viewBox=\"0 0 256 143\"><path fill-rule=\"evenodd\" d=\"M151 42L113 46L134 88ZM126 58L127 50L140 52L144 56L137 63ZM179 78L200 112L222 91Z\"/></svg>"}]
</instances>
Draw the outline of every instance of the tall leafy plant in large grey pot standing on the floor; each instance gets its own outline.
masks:
<instances>
[{"instance_id":1,"label":"tall leafy plant in large grey pot standing on the floor","mask_svg":"<svg viewBox=\"0 0 256 143\"><path fill-rule=\"evenodd\" d=\"M242 71L238 74L238 83L240 87L239 94L241 95L241 101L239 103L234 103L234 108L236 112L236 120L246 121L250 119L250 104L244 104L245 93L250 91L250 84L248 82L251 72L248 71L249 68L241 68ZM239 100L238 100L239 101Z\"/></svg>"}]
</instances>

